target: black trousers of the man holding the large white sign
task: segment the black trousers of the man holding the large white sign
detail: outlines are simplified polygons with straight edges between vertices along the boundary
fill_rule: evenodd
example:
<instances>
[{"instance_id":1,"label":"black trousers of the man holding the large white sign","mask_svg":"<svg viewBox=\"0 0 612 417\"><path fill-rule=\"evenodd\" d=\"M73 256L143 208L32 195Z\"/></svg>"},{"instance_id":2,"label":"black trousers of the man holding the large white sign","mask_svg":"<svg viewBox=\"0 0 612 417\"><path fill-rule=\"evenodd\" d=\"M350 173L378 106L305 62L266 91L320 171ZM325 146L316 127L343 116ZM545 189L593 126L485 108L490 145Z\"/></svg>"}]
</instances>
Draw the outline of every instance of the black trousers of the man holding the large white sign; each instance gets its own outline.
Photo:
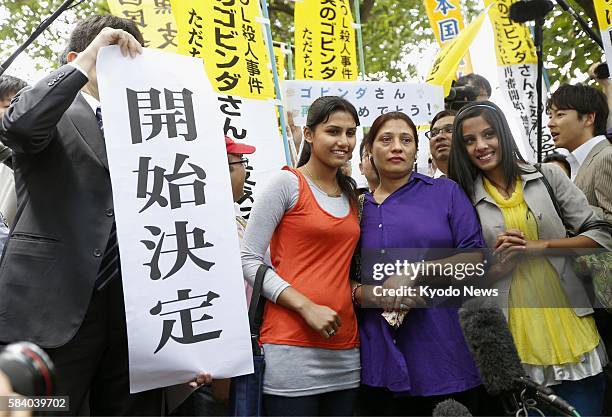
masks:
<instances>
[{"instance_id":1,"label":"black trousers of the man holding the large white sign","mask_svg":"<svg viewBox=\"0 0 612 417\"><path fill-rule=\"evenodd\" d=\"M121 279L94 290L85 319L67 344L45 349L55 364L56 395L79 415L162 415L162 390L130 394L127 330ZM86 400L89 400L88 404Z\"/></svg>"}]
</instances>

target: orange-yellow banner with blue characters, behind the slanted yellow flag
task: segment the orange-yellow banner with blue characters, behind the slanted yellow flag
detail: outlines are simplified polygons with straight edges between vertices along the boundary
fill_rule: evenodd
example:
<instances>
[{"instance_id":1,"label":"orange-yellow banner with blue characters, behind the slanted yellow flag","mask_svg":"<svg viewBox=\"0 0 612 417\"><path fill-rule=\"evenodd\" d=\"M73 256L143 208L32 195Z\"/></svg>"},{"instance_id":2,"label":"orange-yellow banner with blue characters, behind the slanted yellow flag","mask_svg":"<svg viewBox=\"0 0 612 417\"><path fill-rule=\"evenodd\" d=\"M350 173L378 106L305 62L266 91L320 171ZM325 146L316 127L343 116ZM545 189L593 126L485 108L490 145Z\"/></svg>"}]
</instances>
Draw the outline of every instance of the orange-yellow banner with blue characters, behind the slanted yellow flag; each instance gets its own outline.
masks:
<instances>
[{"instance_id":1,"label":"orange-yellow banner with blue characters, behind the slanted yellow flag","mask_svg":"<svg viewBox=\"0 0 612 417\"><path fill-rule=\"evenodd\" d=\"M436 40L441 47L455 39L463 30L463 16L459 0L425 0L425 10ZM459 64L460 74L470 74L472 61L469 50Z\"/></svg>"}]
</instances>

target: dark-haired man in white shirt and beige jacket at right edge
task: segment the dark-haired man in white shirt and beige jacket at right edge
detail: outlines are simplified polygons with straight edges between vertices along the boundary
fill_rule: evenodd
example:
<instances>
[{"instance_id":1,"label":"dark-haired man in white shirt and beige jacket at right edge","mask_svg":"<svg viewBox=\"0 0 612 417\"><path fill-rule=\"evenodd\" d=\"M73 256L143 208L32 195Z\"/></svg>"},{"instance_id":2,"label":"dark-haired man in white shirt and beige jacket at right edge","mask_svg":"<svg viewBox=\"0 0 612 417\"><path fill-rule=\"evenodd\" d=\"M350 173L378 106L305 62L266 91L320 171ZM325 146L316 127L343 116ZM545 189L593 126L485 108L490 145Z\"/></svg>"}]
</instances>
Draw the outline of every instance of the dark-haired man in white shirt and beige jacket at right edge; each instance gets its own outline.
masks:
<instances>
[{"instance_id":1,"label":"dark-haired man in white shirt and beige jacket at right edge","mask_svg":"<svg viewBox=\"0 0 612 417\"><path fill-rule=\"evenodd\" d=\"M555 145L567 149L572 181L593 210L612 222L612 144L605 137L608 104L599 90L562 85L548 101Z\"/></svg>"}]
</instances>

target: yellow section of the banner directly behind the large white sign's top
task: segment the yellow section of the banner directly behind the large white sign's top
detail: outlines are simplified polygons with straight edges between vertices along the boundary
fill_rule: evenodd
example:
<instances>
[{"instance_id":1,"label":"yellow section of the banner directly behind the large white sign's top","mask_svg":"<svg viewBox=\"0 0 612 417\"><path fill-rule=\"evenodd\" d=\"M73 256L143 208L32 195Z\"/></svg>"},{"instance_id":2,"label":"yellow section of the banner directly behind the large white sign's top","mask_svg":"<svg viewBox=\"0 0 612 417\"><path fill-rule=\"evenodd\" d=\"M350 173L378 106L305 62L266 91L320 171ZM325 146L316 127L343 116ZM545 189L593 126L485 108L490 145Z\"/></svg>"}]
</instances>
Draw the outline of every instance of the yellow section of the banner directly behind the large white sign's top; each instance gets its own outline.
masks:
<instances>
[{"instance_id":1,"label":"yellow section of the banner directly behind the large white sign's top","mask_svg":"<svg viewBox=\"0 0 612 417\"><path fill-rule=\"evenodd\" d=\"M215 91L273 98L274 84L256 0L171 0L178 52L202 58Z\"/></svg>"}]
</instances>

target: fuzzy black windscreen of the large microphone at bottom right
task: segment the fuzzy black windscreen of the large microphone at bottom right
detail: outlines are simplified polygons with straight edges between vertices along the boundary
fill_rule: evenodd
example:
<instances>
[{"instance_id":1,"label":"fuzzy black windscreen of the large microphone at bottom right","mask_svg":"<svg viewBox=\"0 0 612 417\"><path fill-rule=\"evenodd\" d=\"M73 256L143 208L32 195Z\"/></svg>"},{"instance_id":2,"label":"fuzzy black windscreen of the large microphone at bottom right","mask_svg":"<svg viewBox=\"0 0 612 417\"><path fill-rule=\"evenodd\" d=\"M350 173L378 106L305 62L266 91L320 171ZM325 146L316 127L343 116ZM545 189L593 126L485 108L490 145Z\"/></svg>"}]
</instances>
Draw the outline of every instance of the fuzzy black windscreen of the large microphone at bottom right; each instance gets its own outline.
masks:
<instances>
[{"instance_id":1,"label":"fuzzy black windscreen of the large microphone at bottom right","mask_svg":"<svg viewBox=\"0 0 612 417\"><path fill-rule=\"evenodd\" d=\"M459 323L487 392L499 395L516 389L525 372L502 311L474 298L459 310Z\"/></svg>"}]
</instances>

